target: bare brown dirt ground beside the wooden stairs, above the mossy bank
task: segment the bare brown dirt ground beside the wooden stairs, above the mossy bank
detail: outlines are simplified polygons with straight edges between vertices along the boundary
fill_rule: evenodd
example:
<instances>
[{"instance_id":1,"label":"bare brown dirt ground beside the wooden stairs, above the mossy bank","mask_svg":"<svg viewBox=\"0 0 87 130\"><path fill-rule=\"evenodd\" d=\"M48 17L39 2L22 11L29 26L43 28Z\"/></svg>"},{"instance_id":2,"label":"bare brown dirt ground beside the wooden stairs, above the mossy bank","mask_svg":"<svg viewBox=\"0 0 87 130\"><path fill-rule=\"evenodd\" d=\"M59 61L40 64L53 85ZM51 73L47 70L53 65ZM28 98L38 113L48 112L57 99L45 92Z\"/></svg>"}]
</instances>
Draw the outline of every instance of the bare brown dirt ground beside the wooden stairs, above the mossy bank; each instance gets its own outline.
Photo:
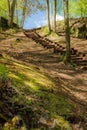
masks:
<instances>
[{"instance_id":1,"label":"bare brown dirt ground beside the wooden stairs, above the mossy bank","mask_svg":"<svg viewBox=\"0 0 87 130\"><path fill-rule=\"evenodd\" d=\"M19 41L16 41L17 38ZM72 39L72 42L77 42L80 50L87 51L86 40ZM83 47L83 43L85 47ZM37 69L51 75L55 84L58 86L60 84L62 93L81 106L84 109L85 118L87 117L87 70L73 68L70 65L66 66L58 54L53 54L51 50L47 50L28 39L22 32L14 34L14 38L9 37L1 40L0 53L9 54L28 65L33 64Z\"/></svg>"}]
</instances>

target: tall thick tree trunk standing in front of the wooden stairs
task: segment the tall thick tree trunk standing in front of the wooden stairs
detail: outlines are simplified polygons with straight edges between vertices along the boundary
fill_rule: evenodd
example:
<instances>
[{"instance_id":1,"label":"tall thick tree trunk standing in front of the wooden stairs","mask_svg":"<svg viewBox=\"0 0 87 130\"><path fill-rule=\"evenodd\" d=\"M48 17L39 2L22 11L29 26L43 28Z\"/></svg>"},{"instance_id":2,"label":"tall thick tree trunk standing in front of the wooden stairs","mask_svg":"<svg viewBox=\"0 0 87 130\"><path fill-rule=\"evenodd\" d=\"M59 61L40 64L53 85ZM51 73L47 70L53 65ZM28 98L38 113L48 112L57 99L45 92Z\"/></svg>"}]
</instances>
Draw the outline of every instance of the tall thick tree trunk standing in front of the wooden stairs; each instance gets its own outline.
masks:
<instances>
[{"instance_id":1,"label":"tall thick tree trunk standing in front of the wooden stairs","mask_svg":"<svg viewBox=\"0 0 87 130\"><path fill-rule=\"evenodd\" d=\"M70 29L69 29L69 12L68 0L64 0L64 22L65 22L65 39L66 39L66 56L65 62L70 62Z\"/></svg>"}]
</instances>

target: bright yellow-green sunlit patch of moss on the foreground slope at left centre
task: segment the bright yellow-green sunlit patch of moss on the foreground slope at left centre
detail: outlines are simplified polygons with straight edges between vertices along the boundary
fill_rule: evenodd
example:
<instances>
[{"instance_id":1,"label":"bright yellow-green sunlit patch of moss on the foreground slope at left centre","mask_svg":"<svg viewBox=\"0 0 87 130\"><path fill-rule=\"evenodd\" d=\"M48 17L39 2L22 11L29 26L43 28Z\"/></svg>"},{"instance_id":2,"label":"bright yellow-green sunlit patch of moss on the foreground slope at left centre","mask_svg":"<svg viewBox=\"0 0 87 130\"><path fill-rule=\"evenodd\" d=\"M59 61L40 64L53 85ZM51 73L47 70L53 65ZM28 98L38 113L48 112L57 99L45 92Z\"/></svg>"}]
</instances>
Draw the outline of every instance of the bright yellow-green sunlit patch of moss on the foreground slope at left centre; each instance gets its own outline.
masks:
<instances>
[{"instance_id":1,"label":"bright yellow-green sunlit patch of moss on the foreground slope at left centre","mask_svg":"<svg viewBox=\"0 0 87 130\"><path fill-rule=\"evenodd\" d=\"M29 88L32 91L40 91L50 90L54 87L52 81L43 72L32 66L26 66L12 60L12 64L9 64L8 69L11 71L9 77L19 89Z\"/></svg>"}]
</instances>

